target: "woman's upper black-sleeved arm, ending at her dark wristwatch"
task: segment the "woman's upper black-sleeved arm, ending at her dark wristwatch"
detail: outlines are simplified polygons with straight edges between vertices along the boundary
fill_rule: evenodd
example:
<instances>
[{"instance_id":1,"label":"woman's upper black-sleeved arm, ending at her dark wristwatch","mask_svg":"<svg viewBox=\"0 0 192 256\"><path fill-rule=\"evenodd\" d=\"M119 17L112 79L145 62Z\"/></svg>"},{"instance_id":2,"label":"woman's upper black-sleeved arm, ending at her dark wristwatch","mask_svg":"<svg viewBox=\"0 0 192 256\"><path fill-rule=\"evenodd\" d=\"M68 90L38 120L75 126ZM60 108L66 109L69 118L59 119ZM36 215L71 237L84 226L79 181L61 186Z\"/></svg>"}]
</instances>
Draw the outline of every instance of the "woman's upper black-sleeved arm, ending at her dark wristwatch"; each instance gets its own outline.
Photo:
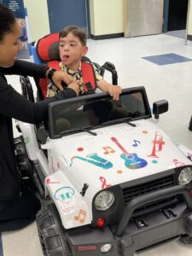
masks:
<instances>
[{"instance_id":1,"label":"woman's upper black-sleeved arm, ending at her dark wristwatch","mask_svg":"<svg viewBox=\"0 0 192 256\"><path fill-rule=\"evenodd\" d=\"M46 64L38 65L29 61L16 60L12 67L0 67L0 72L5 75L16 74L44 79L48 68Z\"/></svg>"}]
</instances>

